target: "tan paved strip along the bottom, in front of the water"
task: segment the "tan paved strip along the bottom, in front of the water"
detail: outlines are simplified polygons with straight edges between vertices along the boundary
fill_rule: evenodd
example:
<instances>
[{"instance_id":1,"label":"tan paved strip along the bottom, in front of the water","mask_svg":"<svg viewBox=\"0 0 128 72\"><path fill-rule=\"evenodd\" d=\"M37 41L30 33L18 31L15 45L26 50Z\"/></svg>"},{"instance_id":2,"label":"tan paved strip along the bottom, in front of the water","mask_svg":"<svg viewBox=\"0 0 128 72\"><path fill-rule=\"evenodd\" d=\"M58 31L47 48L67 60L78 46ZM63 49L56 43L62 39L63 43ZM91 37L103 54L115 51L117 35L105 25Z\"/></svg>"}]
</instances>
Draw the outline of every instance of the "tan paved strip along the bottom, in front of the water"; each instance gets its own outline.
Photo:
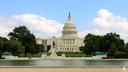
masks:
<instances>
[{"instance_id":1,"label":"tan paved strip along the bottom, in front of the water","mask_svg":"<svg viewBox=\"0 0 128 72\"><path fill-rule=\"evenodd\" d=\"M123 68L0 68L0 72L128 72Z\"/></svg>"}]
</instances>

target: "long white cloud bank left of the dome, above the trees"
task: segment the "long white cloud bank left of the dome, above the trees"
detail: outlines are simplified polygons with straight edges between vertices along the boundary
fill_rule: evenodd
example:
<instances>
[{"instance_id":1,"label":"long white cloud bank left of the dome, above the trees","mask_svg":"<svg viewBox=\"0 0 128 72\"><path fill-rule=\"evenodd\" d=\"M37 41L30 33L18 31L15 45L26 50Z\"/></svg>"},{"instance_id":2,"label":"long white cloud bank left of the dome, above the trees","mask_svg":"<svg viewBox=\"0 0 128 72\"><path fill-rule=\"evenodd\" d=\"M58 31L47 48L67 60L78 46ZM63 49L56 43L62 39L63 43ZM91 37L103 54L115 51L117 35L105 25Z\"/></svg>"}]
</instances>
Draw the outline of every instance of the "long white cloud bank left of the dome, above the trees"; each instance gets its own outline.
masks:
<instances>
[{"instance_id":1,"label":"long white cloud bank left of the dome, above the trees","mask_svg":"<svg viewBox=\"0 0 128 72\"><path fill-rule=\"evenodd\" d=\"M25 25L40 38L60 36L63 25L35 14L0 17L0 36L7 36L15 27Z\"/></svg>"}]
</instances>

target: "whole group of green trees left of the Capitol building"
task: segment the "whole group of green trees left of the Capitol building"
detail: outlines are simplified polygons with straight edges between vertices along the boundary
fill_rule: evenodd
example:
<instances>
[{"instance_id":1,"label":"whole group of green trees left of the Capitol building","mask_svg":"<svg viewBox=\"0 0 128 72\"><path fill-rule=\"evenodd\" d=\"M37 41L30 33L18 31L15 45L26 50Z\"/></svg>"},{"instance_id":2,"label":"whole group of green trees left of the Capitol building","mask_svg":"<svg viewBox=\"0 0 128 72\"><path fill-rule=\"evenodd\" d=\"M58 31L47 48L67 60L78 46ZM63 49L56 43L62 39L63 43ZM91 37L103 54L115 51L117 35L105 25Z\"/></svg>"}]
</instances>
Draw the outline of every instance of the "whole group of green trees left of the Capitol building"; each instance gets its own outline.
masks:
<instances>
[{"instance_id":1,"label":"whole group of green trees left of the Capitol building","mask_svg":"<svg viewBox=\"0 0 128 72\"><path fill-rule=\"evenodd\" d=\"M0 37L0 56L4 52L20 56L24 54L35 54L44 50L43 45L36 44L36 38L26 26L19 26L8 34L9 39Z\"/></svg>"}]
</instances>

